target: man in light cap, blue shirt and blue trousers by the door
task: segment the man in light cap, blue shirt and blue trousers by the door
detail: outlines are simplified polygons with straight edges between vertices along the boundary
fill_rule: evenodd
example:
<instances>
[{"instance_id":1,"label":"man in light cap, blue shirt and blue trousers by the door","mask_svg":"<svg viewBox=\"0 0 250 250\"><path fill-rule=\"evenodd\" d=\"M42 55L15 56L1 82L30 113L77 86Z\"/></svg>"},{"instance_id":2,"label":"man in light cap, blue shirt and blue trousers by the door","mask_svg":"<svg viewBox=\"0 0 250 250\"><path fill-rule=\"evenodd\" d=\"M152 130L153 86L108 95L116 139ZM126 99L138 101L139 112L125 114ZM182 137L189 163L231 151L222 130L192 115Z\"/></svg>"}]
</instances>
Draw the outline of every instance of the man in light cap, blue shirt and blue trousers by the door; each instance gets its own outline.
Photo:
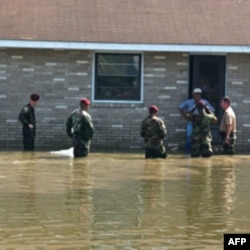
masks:
<instances>
[{"instance_id":1,"label":"man in light cap, blue shirt and blue trousers by the door","mask_svg":"<svg viewBox=\"0 0 250 250\"><path fill-rule=\"evenodd\" d=\"M178 110L180 111L180 113L186 118L189 118L190 113L193 114L198 114L198 111L196 109L196 105L198 102L202 102L204 103L204 105L211 111L214 112L214 108L212 107L212 105L205 99L201 98L202 95L202 90L199 88L196 88L193 90L193 98L192 99L188 99L184 102L182 102L179 106L178 106ZM186 152L190 153L191 151L191 134L192 134L192 130L193 130L193 124L192 121L188 121L187 122L187 126L186 126Z\"/></svg>"}]
</instances>

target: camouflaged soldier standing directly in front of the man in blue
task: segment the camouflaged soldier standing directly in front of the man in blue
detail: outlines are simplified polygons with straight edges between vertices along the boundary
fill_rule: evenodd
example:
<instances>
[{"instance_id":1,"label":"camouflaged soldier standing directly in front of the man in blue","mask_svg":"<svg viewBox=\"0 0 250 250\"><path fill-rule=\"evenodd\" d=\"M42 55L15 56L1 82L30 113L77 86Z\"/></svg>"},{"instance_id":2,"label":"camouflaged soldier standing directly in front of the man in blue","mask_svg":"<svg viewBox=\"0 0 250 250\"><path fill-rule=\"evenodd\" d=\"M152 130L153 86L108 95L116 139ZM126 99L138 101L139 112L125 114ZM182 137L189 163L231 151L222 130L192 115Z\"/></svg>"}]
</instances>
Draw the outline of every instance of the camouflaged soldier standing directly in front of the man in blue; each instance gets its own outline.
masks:
<instances>
[{"instance_id":1,"label":"camouflaged soldier standing directly in front of the man in blue","mask_svg":"<svg viewBox=\"0 0 250 250\"><path fill-rule=\"evenodd\" d=\"M213 153L211 124L216 123L218 118L201 101L197 103L196 109L198 114L187 114L188 119L193 123L191 157L200 155L210 157Z\"/></svg>"}]
</instances>

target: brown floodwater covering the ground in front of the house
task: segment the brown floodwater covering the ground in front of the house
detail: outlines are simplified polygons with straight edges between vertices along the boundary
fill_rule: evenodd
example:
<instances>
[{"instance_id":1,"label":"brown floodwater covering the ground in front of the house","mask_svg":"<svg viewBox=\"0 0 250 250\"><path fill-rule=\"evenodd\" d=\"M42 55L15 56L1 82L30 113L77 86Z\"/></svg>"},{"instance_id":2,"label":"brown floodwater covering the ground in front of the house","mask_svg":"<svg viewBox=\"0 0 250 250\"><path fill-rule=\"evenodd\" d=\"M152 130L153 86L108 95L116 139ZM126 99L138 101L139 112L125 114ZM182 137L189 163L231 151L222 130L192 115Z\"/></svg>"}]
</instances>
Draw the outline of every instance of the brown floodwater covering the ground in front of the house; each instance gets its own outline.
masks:
<instances>
[{"instance_id":1,"label":"brown floodwater covering the ground in front of the house","mask_svg":"<svg viewBox=\"0 0 250 250\"><path fill-rule=\"evenodd\" d=\"M215 250L250 233L250 156L0 152L0 250Z\"/></svg>"}]
</instances>

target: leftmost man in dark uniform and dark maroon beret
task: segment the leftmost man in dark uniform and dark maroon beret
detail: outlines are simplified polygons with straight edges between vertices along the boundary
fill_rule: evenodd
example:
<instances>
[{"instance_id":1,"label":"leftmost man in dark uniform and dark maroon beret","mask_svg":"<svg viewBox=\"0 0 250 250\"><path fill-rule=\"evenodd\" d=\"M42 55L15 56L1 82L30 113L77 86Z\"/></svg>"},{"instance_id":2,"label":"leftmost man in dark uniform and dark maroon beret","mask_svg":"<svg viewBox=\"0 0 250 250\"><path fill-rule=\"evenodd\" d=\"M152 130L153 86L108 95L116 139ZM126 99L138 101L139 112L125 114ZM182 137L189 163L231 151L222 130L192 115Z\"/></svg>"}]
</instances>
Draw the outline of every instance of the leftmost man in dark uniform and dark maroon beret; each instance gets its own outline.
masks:
<instances>
[{"instance_id":1,"label":"leftmost man in dark uniform and dark maroon beret","mask_svg":"<svg viewBox=\"0 0 250 250\"><path fill-rule=\"evenodd\" d=\"M19 113L19 121L23 124L23 149L24 151L34 151L36 136L36 116L35 106L40 96L36 93L30 95L30 101Z\"/></svg>"}]
</instances>

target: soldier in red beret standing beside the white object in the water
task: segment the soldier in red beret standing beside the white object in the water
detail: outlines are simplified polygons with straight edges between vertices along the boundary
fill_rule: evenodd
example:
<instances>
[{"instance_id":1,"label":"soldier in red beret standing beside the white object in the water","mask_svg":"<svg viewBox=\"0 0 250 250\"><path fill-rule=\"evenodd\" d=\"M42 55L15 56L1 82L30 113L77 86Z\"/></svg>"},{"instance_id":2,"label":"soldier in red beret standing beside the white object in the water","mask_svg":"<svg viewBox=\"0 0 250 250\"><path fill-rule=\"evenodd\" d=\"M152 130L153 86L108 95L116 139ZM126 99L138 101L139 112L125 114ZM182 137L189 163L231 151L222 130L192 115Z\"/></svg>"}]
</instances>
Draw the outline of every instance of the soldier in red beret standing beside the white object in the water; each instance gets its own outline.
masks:
<instances>
[{"instance_id":1,"label":"soldier in red beret standing beside the white object in the water","mask_svg":"<svg viewBox=\"0 0 250 250\"><path fill-rule=\"evenodd\" d=\"M90 140L93 137L93 123L88 114L90 101L87 98L80 100L80 108L71 113L66 121L66 133L73 138L74 157L86 157L90 149Z\"/></svg>"}]
</instances>

